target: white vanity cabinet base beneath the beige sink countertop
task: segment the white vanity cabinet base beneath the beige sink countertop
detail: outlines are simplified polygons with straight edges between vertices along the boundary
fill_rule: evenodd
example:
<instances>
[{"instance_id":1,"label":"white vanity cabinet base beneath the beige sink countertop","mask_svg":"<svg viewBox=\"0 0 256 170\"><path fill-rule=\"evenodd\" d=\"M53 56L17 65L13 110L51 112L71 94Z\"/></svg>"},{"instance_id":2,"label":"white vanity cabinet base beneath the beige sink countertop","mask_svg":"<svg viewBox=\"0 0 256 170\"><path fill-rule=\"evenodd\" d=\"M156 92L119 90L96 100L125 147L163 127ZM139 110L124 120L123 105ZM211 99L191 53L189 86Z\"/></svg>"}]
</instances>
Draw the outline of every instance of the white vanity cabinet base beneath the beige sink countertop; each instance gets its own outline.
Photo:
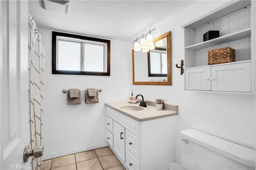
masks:
<instances>
[{"instance_id":1,"label":"white vanity cabinet base beneath the beige sink countertop","mask_svg":"<svg viewBox=\"0 0 256 170\"><path fill-rule=\"evenodd\" d=\"M137 121L106 107L107 141L129 170L168 169L176 158L176 116ZM108 123L113 122L113 131ZM113 142L108 139L113 135Z\"/></svg>"}]
</instances>

